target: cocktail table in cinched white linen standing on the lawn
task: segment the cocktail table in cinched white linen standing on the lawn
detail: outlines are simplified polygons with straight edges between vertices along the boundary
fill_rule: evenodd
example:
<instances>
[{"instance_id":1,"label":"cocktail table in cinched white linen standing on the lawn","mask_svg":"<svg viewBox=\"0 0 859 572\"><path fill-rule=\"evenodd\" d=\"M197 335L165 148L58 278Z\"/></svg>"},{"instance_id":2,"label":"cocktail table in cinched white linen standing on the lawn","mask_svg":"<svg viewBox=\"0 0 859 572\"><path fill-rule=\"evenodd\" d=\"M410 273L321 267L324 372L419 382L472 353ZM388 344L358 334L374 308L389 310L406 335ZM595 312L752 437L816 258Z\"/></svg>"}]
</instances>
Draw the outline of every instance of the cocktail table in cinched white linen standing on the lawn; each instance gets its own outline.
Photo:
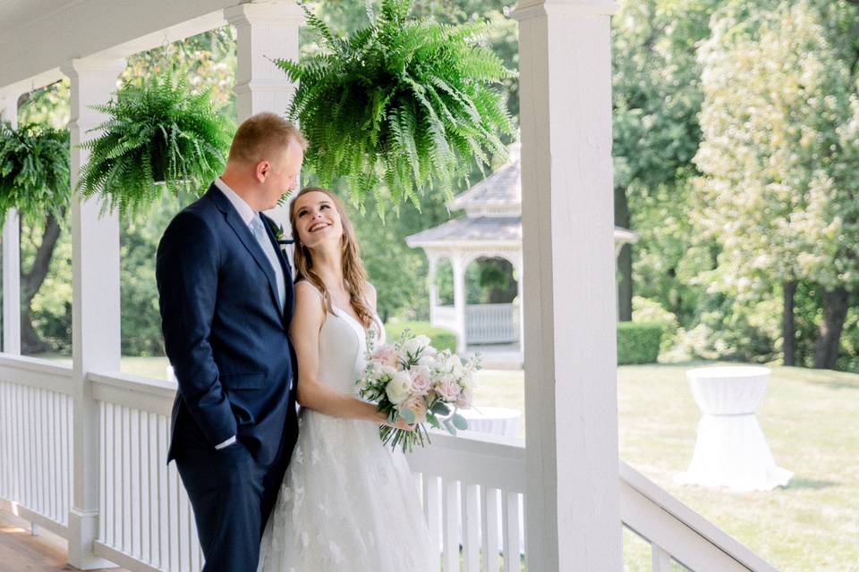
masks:
<instances>
[{"instance_id":1,"label":"cocktail table in cinched white linen standing on the lawn","mask_svg":"<svg viewBox=\"0 0 859 572\"><path fill-rule=\"evenodd\" d=\"M675 475L681 484L724 486L734 491L770 491L786 486L793 473L778 467L755 409L770 369L760 366L699 367L686 371L702 411L692 463Z\"/></svg>"}]
</instances>

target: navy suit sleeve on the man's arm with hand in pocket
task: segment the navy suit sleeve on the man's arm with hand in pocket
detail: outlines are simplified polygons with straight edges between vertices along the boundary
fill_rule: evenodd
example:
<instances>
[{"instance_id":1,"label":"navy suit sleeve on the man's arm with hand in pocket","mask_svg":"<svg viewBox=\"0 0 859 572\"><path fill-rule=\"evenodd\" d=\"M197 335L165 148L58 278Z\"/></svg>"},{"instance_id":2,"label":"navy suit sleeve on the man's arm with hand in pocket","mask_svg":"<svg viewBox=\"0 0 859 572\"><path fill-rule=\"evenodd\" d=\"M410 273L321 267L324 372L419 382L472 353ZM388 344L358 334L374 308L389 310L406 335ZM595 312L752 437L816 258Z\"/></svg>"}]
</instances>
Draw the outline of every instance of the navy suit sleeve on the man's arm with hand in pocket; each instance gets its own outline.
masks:
<instances>
[{"instance_id":1,"label":"navy suit sleeve on the man's arm with hand in pocket","mask_svg":"<svg viewBox=\"0 0 859 572\"><path fill-rule=\"evenodd\" d=\"M219 265L214 232L199 216L178 214L158 244L161 328L179 394L213 448L237 429L209 342Z\"/></svg>"}]
</instances>

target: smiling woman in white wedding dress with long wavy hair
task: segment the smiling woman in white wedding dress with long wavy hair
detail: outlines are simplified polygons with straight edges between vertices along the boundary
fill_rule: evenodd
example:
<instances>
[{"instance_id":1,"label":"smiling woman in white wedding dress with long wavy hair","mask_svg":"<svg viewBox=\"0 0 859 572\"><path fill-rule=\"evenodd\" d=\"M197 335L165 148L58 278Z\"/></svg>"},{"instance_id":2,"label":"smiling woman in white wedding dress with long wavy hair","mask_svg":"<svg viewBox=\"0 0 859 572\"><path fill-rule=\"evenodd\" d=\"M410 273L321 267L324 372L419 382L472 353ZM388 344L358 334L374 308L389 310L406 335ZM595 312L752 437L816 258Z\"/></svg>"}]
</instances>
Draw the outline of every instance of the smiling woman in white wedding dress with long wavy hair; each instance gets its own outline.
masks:
<instances>
[{"instance_id":1,"label":"smiling woman in white wedding dress with long wavy hair","mask_svg":"<svg viewBox=\"0 0 859 572\"><path fill-rule=\"evenodd\" d=\"M326 189L294 198L298 442L263 534L263 572L438 572L438 547L402 453L376 407L357 398L367 336L385 331L343 203ZM407 428L405 425L400 428Z\"/></svg>"}]
</instances>

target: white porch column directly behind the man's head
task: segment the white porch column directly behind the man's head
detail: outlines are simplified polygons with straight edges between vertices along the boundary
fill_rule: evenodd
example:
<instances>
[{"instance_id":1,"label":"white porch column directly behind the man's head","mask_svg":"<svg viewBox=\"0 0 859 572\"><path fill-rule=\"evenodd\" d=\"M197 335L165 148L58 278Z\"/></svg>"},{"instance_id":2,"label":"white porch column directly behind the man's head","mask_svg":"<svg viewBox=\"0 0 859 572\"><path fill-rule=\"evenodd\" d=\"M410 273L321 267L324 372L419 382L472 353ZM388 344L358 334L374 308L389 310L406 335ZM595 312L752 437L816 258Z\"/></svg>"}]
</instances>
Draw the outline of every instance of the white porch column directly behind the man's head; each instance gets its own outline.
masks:
<instances>
[{"instance_id":1,"label":"white porch column directly behind the man's head","mask_svg":"<svg viewBox=\"0 0 859 572\"><path fill-rule=\"evenodd\" d=\"M295 86L271 60L298 59L298 29L304 21L301 7L292 0L238 4L225 9L224 18L237 32L238 61L233 91L238 121L241 123L263 111L284 115ZM289 233L287 204L276 206L266 214Z\"/></svg>"}]
</instances>

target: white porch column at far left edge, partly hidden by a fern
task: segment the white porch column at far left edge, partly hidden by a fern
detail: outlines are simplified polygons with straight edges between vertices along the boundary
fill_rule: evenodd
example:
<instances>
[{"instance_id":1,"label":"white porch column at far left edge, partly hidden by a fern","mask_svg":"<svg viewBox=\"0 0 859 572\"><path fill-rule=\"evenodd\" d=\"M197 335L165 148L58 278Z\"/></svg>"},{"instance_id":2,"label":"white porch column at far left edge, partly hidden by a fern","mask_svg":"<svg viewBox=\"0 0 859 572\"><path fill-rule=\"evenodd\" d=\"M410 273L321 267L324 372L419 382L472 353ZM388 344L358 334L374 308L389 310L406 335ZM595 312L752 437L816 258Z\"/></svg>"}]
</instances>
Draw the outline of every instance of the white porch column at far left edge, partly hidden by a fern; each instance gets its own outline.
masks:
<instances>
[{"instance_id":1,"label":"white porch column at far left edge, partly hidden by a fern","mask_svg":"<svg viewBox=\"0 0 859 572\"><path fill-rule=\"evenodd\" d=\"M0 120L18 128L18 93L0 93ZM21 353L21 221L10 208L3 225L3 350Z\"/></svg>"}]
</instances>

